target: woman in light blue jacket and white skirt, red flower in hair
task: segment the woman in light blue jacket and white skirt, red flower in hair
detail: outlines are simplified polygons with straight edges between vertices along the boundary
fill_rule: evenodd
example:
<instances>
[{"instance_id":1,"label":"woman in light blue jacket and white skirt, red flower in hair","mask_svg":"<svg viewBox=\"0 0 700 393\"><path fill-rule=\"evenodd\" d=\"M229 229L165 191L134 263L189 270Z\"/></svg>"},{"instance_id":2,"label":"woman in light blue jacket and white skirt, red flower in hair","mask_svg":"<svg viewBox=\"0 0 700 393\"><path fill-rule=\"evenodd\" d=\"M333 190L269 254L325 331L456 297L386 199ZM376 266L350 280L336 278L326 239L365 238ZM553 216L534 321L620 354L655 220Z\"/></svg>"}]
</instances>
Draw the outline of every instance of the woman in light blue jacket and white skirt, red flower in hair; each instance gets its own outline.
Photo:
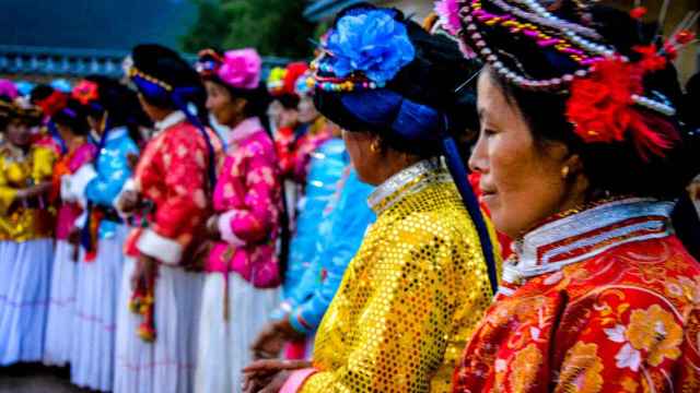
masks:
<instances>
[{"instance_id":1,"label":"woman in light blue jacket and white skirt, red flower in hair","mask_svg":"<svg viewBox=\"0 0 700 393\"><path fill-rule=\"evenodd\" d=\"M116 80L81 81L73 96L85 106L98 139L94 166L71 178L71 188L86 201L81 218L82 260L78 265L75 332L71 381L96 391L112 391L119 283L124 271L121 248L128 226L114 207L131 177L130 156L138 155L132 119L136 96Z\"/></svg>"}]
</instances>

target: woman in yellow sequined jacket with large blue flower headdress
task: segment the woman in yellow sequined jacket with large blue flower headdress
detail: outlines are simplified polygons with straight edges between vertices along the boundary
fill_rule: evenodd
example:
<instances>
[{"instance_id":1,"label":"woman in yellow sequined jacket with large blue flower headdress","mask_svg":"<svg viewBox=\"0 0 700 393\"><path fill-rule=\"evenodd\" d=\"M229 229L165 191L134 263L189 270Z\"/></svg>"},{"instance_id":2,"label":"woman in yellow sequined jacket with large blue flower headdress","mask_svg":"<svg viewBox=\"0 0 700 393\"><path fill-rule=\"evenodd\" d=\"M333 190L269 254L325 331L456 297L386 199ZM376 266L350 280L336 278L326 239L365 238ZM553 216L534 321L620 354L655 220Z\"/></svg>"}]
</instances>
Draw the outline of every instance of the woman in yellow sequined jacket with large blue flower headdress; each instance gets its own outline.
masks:
<instances>
[{"instance_id":1,"label":"woman in yellow sequined jacket with large blue flower headdress","mask_svg":"<svg viewBox=\"0 0 700 393\"><path fill-rule=\"evenodd\" d=\"M491 297L481 252L490 239L480 239L460 198L466 175L444 121L464 60L446 38L369 4L341 12L323 49L314 100L345 130L360 179L377 186L369 198L377 219L318 327L313 366L254 364L247 388L450 391L460 347ZM471 212L482 219L478 206Z\"/></svg>"}]
</instances>

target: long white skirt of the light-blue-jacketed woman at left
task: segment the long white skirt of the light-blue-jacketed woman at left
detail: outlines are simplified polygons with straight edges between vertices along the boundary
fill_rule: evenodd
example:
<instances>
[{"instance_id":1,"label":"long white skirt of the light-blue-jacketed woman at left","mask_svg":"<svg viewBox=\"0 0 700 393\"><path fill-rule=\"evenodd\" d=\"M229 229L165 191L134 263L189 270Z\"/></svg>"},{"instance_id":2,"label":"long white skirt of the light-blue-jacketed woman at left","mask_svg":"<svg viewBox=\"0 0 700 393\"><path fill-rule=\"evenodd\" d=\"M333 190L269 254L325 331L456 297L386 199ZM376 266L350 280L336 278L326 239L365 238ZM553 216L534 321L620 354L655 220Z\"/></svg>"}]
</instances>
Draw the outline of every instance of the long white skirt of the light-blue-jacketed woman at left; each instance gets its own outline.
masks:
<instances>
[{"instance_id":1,"label":"long white skirt of the light-blue-jacketed woman at left","mask_svg":"<svg viewBox=\"0 0 700 393\"><path fill-rule=\"evenodd\" d=\"M117 301L124 271L127 226L114 238L100 239L94 261L78 264L71 382L96 391L112 391L116 342Z\"/></svg>"}]
</instances>

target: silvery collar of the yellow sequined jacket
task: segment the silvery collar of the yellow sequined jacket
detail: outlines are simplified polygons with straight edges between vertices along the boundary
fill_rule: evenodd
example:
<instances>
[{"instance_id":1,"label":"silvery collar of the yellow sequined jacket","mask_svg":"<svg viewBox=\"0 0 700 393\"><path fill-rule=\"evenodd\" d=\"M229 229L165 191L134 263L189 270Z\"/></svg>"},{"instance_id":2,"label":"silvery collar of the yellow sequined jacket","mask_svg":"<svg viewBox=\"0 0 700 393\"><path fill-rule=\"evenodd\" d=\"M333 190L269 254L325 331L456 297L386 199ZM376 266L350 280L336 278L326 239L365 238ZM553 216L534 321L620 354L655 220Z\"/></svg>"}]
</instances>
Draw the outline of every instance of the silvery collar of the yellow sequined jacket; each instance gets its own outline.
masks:
<instances>
[{"instance_id":1,"label":"silvery collar of the yellow sequined jacket","mask_svg":"<svg viewBox=\"0 0 700 393\"><path fill-rule=\"evenodd\" d=\"M401 169L370 194L368 204L376 215L392 207L396 202L406 195L421 189L420 184L428 175L435 172L443 167L440 158L430 158L418 162L405 169ZM448 174L446 174L450 176Z\"/></svg>"}]
</instances>

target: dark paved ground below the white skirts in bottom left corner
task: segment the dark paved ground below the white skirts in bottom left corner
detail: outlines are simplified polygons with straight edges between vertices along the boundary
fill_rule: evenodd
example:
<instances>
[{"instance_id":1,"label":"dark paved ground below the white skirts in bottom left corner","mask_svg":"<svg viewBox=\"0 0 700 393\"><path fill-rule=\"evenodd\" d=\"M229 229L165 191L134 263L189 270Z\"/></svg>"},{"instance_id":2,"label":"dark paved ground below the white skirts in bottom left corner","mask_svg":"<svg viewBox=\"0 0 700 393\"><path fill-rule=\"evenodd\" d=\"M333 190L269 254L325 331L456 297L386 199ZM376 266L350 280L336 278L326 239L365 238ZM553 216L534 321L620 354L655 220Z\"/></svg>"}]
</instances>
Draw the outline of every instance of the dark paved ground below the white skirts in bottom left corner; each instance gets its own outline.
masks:
<instances>
[{"instance_id":1,"label":"dark paved ground below the white skirts in bottom left corner","mask_svg":"<svg viewBox=\"0 0 700 393\"><path fill-rule=\"evenodd\" d=\"M0 393L88 393L68 381L67 369L36 365L0 368Z\"/></svg>"}]
</instances>

